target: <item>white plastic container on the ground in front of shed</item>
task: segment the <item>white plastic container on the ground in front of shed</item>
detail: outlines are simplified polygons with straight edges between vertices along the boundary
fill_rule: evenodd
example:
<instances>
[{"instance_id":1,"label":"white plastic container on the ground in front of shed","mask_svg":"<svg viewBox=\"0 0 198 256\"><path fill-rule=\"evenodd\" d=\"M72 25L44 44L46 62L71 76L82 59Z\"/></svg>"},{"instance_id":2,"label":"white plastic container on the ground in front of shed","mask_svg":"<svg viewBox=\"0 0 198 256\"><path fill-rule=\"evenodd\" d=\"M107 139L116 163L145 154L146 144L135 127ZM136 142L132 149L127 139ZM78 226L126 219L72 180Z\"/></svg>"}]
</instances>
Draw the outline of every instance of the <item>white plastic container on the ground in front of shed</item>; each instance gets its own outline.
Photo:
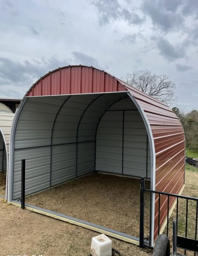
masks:
<instances>
[{"instance_id":1,"label":"white plastic container on the ground in front of shed","mask_svg":"<svg viewBox=\"0 0 198 256\"><path fill-rule=\"evenodd\" d=\"M112 240L104 234L94 236L91 240L91 256L112 256Z\"/></svg>"}]
</instances>

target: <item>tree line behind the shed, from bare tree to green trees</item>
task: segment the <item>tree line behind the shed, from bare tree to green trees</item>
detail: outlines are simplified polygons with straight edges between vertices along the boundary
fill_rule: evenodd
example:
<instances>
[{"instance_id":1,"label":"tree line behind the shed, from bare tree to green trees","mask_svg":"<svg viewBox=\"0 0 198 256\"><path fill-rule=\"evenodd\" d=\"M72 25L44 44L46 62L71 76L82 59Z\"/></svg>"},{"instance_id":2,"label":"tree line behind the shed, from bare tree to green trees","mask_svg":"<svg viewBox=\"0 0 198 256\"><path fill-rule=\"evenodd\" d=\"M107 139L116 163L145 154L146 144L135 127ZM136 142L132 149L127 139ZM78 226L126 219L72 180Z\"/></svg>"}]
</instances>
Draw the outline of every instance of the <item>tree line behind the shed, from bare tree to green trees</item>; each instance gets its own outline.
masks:
<instances>
[{"instance_id":1,"label":"tree line behind the shed, from bare tree to green trees","mask_svg":"<svg viewBox=\"0 0 198 256\"><path fill-rule=\"evenodd\" d=\"M160 99L167 105L173 105L176 101L176 85L169 80L166 75L156 75L150 72L142 74L127 74L121 78L127 84L149 94L156 99ZM186 140L186 149L198 150L198 111L193 110L188 113L181 111L178 107L172 110L180 119Z\"/></svg>"}]
</instances>

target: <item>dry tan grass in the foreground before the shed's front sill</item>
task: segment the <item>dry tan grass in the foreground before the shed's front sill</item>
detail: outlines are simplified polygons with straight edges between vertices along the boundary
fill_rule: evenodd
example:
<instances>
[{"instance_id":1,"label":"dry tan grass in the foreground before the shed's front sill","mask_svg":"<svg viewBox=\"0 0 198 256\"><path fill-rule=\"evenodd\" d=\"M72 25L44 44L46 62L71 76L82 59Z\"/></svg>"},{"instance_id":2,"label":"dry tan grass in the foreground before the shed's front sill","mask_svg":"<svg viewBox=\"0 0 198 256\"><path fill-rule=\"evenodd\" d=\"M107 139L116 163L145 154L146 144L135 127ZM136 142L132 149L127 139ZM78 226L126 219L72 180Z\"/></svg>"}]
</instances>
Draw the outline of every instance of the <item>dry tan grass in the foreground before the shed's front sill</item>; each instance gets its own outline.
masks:
<instances>
[{"instance_id":1,"label":"dry tan grass in the foreground before the shed's front sill","mask_svg":"<svg viewBox=\"0 0 198 256\"><path fill-rule=\"evenodd\" d=\"M22 210L0 201L0 255L87 256L98 233ZM112 239L122 256L146 256L147 250Z\"/></svg>"}]
</instances>

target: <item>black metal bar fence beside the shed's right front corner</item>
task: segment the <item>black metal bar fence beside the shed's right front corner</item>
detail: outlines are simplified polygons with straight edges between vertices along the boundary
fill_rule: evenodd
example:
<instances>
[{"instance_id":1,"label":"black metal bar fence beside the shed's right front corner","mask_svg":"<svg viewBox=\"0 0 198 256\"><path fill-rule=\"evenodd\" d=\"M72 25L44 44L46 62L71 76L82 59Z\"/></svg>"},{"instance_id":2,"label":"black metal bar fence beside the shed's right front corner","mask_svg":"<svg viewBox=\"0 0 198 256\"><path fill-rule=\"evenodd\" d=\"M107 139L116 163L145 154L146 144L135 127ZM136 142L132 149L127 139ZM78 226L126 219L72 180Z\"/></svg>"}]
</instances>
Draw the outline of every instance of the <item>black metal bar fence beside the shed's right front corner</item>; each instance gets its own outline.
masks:
<instances>
[{"instance_id":1,"label":"black metal bar fence beside the shed's right front corner","mask_svg":"<svg viewBox=\"0 0 198 256\"><path fill-rule=\"evenodd\" d=\"M198 188L197 188L198 189ZM170 207L173 206L173 202L176 200L176 227L177 227L177 235L178 232L180 232L180 229L178 228L178 219L180 215L182 214L185 222L183 223L184 231L185 231L185 238L188 237L188 225L192 224L192 221L195 221L194 223L194 230L190 228L190 237L194 236L194 239L197 240L197 232L198 232L198 198L193 198L189 196L180 196L176 194L171 194L171 193L165 193L165 192L160 192L160 191L152 191L150 189L145 188L145 179L141 178L140 179L140 247L144 248L145 246L148 246L147 241L144 240L145 234L144 234L144 227L145 227L145 193L150 193L150 239L149 239L149 246L151 246L151 223L152 223L152 216L151 216L151 209L152 209L152 195L155 194L158 197L158 218L157 218L157 233L158 235L160 234L160 197L161 196L166 196L167 197L167 217L165 219L166 221L166 235L169 236L169 230L170 230L170 223L169 223L169 213L170 213ZM156 196L155 196L156 198ZM183 199L185 200L185 209L182 209L180 211L179 207L179 202L180 200ZM189 204L190 202L194 202L195 204L195 220L189 217L188 212L189 212ZM172 227L171 227L172 228ZM194 235L193 235L194 234ZM184 255L186 255L186 250L184 251ZM195 254L194 254L195 255Z\"/></svg>"}]
</instances>

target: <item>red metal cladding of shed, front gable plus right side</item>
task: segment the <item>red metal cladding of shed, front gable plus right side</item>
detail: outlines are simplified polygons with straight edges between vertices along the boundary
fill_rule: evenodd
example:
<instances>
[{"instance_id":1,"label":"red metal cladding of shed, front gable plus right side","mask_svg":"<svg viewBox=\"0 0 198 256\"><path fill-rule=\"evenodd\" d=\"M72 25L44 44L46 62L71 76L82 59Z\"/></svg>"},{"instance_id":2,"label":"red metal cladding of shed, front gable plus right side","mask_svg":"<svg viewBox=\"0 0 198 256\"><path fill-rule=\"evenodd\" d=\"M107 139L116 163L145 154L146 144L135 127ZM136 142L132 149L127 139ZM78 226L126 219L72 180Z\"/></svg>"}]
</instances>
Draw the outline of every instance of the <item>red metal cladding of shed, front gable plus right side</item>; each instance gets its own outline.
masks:
<instances>
[{"instance_id":1,"label":"red metal cladding of shed, front gable plus right side","mask_svg":"<svg viewBox=\"0 0 198 256\"><path fill-rule=\"evenodd\" d=\"M159 100L135 89L105 71L87 66L66 66L41 77L26 97L129 91L150 123L155 144L156 190L178 193L185 177L185 136L175 113ZM160 225L167 215L167 198L161 197ZM170 200L170 204L173 201ZM155 204L157 235L158 198Z\"/></svg>"}]
</instances>

